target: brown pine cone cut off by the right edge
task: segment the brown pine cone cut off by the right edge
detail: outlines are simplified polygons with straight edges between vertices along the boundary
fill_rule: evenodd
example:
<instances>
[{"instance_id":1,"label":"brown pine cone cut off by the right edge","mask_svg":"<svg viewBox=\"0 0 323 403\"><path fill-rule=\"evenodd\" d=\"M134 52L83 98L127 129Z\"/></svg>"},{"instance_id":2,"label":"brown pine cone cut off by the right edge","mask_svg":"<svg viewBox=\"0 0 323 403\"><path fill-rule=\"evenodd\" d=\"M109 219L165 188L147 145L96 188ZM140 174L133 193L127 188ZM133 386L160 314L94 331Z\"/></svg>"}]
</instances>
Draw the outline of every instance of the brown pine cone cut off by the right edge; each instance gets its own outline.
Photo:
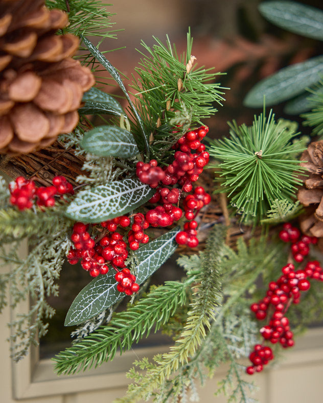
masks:
<instances>
[{"instance_id":1,"label":"brown pine cone cut off by the right edge","mask_svg":"<svg viewBox=\"0 0 323 403\"><path fill-rule=\"evenodd\" d=\"M306 207L301 216L301 229L305 234L323 237L323 140L310 143L302 154L301 166L307 169L308 178L299 189L297 198Z\"/></svg>"}]
</instances>

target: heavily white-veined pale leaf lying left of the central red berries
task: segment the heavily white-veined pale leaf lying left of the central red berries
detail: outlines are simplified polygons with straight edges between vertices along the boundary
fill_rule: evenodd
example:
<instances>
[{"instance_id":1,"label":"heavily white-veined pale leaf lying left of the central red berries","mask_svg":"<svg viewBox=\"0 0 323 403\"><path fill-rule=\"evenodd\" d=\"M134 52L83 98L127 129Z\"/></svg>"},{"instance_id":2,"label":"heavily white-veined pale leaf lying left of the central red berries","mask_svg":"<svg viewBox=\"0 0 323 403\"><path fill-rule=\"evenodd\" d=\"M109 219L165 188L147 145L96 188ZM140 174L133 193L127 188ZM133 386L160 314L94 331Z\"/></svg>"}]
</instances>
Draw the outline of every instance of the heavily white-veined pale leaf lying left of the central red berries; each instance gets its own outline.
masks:
<instances>
[{"instance_id":1,"label":"heavily white-veined pale leaf lying left of the central red berries","mask_svg":"<svg viewBox=\"0 0 323 403\"><path fill-rule=\"evenodd\" d=\"M84 223L106 221L143 205L154 192L138 179L115 181L78 192L65 214Z\"/></svg>"}]
</instances>

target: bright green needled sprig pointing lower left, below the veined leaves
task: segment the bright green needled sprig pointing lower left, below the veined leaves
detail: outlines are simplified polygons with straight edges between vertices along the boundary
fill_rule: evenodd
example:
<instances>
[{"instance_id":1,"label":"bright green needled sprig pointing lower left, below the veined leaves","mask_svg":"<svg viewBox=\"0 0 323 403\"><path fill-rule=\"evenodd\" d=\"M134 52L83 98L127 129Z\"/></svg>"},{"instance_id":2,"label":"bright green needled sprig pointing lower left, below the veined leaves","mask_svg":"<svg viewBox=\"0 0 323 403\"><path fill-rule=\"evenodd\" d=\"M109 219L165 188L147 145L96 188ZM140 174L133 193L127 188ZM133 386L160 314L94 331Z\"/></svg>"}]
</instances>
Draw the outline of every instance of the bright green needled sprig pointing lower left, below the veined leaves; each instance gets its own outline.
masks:
<instances>
[{"instance_id":1,"label":"bright green needled sprig pointing lower left, below the veined leaves","mask_svg":"<svg viewBox=\"0 0 323 403\"><path fill-rule=\"evenodd\" d=\"M130 349L133 343L148 336L153 327L156 332L174 314L177 306L186 303L186 289L193 280L166 282L127 311L114 314L108 326L99 328L54 358L58 374L98 366L112 360L118 348L121 353Z\"/></svg>"}]
</instances>

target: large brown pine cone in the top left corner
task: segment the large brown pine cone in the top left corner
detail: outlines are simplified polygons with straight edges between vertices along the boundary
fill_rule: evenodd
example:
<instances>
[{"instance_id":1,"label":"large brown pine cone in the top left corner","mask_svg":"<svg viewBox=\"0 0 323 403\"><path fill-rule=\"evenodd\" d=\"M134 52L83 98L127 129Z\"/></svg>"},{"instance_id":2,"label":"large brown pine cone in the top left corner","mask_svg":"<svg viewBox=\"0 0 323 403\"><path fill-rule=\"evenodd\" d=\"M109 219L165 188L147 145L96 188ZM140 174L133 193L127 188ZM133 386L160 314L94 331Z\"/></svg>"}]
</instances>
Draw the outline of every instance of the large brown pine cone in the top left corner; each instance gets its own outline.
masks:
<instances>
[{"instance_id":1,"label":"large brown pine cone in the top left corner","mask_svg":"<svg viewBox=\"0 0 323 403\"><path fill-rule=\"evenodd\" d=\"M71 58L78 38L55 34L66 24L43 0L0 0L0 153L30 153L76 127L94 77Z\"/></svg>"}]
</instances>

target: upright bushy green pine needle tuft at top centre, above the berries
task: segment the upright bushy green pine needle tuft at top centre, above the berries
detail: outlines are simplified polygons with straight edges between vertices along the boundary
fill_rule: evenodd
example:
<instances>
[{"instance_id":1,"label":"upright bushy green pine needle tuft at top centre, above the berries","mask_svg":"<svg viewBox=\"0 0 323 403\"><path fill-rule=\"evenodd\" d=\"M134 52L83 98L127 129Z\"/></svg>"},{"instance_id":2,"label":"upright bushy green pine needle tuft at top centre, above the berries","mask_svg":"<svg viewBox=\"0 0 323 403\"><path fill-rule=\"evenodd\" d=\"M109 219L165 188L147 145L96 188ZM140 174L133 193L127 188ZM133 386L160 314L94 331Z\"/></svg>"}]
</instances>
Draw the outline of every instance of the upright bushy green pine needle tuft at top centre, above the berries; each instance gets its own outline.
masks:
<instances>
[{"instance_id":1,"label":"upright bushy green pine needle tuft at top centre, above the berries","mask_svg":"<svg viewBox=\"0 0 323 403\"><path fill-rule=\"evenodd\" d=\"M139 78L133 80L136 109L143 118L145 131L154 138L151 144L153 154L163 154L176 142L174 118L178 120L179 112L184 125L202 124L201 119L210 117L217 109L214 104L221 105L224 100L223 88L214 84L217 74L204 67L187 70L192 55L192 38L187 36L187 52L178 56L175 46L167 37L166 44L154 38L156 43L149 47L142 42L143 58L135 71ZM182 124L182 123L180 123ZM134 134L139 128L133 127Z\"/></svg>"}]
</instances>

